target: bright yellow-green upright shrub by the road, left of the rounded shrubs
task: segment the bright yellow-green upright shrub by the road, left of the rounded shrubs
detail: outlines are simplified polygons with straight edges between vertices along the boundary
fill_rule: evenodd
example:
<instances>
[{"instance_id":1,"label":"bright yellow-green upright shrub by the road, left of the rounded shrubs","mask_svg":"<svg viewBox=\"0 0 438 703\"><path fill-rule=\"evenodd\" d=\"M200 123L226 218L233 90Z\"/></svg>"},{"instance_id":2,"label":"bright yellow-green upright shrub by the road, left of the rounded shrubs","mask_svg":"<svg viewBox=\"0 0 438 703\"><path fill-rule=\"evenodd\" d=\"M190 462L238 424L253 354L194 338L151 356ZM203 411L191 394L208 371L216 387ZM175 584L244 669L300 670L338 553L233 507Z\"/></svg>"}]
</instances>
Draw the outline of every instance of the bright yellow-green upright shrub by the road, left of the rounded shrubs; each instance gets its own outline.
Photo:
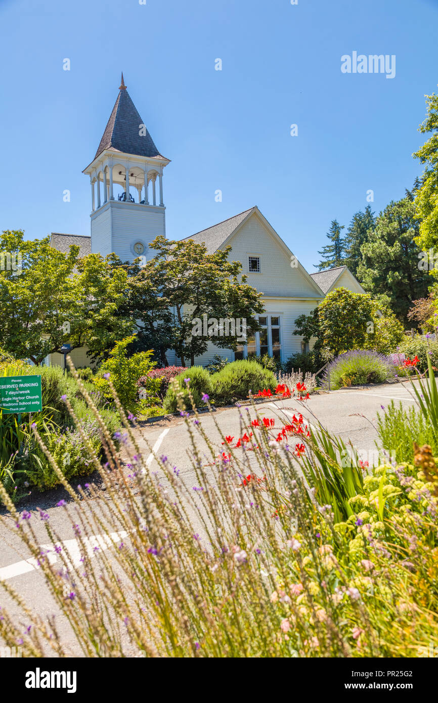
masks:
<instances>
[{"instance_id":1,"label":"bright yellow-green upright shrub by the road, left of the rounded shrubs","mask_svg":"<svg viewBox=\"0 0 438 703\"><path fill-rule=\"evenodd\" d=\"M155 404L157 389L160 387L160 380L150 378L149 371L155 366L152 361L153 351L137 352L132 356L127 356L127 347L134 341L136 335L125 337L121 342L116 342L114 349L110 352L110 358L104 361L99 368L98 376L94 379L94 385L103 395L112 399L112 393L108 378L111 378L115 392L129 412L135 412L138 403L137 381L140 377L145 378L144 387L150 404ZM108 374L108 378L105 375Z\"/></svg>"}]
</instances>

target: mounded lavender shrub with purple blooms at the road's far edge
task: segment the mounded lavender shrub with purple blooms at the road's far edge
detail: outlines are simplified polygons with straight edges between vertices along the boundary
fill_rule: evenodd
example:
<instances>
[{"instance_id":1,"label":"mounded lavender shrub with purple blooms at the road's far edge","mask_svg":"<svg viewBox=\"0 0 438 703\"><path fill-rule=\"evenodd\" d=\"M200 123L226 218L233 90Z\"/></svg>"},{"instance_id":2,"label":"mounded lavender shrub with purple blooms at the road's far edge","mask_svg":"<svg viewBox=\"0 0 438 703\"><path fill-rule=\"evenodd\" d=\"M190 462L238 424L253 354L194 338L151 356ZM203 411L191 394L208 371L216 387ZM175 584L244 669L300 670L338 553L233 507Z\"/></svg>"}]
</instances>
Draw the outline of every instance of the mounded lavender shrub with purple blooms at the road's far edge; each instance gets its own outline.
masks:
<instances>
[{"instance_id":1,"label":"mounded lavender shrub with purple blooms at the road's far edge","mask_svg":"<svg viewBox=\"0 0 438 703\"><path fill-rule=\"evenodd\" d=\"M361 383L385 383L393 378L395 367L391 359L377 352L354 349L336 357L323 374L323 385L335 390Z\"/></svg>"}]
</instances>

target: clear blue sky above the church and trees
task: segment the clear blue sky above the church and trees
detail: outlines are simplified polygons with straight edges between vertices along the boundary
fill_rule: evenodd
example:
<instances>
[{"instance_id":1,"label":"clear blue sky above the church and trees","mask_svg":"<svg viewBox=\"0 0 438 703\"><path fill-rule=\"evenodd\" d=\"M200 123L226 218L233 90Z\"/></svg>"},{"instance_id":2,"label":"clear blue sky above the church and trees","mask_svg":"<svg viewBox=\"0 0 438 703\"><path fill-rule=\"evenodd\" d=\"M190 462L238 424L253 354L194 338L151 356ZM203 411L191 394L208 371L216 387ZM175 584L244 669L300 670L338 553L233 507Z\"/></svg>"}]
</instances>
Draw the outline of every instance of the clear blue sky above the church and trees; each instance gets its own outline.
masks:
<instances>
[{"instance_id":1,"label":"clear blue sky above the church and trees","mask_svg":"<svg viewBox=\"0 0 438 703\"><path fill-rule=\"evenodd\" d=\"M258 205L313 271L332 219L347 226L369 189L380 212L422 170L438 0L0 0L0 26L0 226L27 238L89 234L82 169L121 70L172 160L169 238ZM343 74L353 51L394 54L394 79Z\"/></svg>"}]
</instances>

